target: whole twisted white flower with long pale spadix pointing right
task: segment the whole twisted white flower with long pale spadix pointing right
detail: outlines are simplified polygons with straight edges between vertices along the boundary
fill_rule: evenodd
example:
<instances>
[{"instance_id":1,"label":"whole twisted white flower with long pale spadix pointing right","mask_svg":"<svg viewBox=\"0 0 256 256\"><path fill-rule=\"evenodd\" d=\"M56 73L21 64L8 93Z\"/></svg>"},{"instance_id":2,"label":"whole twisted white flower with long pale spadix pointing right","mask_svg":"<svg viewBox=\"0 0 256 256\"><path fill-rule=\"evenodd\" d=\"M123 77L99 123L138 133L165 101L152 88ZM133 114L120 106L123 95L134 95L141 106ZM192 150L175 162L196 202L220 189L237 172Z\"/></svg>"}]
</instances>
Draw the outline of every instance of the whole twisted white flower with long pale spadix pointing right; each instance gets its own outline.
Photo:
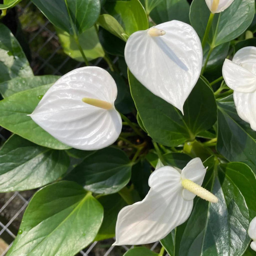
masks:
<instances>
[{"instance_id":1,"label":"whole twisted white flower with long pale spadix pointing right","mask_svg":"<svg viewBox=\"0 0 256 256\"><path fill-rule=\"evenodd\" d=\"M148 244L164 238L191 214L196 195L210 202L218 198L202 188L206 169L194 158L181 172L160 167L149 177L150 190L141 202L124 207L118 214L113 245Z\"/></svg>"}]
</instances>

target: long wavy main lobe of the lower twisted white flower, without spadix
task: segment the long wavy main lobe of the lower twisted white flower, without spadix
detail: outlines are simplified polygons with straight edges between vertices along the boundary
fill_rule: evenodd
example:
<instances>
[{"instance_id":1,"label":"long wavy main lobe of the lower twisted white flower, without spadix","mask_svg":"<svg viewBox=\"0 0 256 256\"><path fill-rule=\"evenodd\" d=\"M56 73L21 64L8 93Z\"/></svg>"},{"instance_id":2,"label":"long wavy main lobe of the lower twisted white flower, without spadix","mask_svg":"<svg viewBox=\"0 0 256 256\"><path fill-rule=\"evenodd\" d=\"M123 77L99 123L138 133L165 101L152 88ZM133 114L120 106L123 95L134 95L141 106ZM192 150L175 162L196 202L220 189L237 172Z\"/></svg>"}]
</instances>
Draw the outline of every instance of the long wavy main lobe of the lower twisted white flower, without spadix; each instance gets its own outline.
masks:
<instances>
[{"instance_id":1,"label":"long wavy main lobe of the lower twisted white flower, without spadix","mask_svg":"<svg viewBox=\"0 0 256 256\"><path fill-rule=\"evenodd\" d=\"M180 173L161 167L149 177L149 193L118 214L114 245L148 244L164 238L190 216L193 201L182 198Z\"/></svg>"}]
</instances>

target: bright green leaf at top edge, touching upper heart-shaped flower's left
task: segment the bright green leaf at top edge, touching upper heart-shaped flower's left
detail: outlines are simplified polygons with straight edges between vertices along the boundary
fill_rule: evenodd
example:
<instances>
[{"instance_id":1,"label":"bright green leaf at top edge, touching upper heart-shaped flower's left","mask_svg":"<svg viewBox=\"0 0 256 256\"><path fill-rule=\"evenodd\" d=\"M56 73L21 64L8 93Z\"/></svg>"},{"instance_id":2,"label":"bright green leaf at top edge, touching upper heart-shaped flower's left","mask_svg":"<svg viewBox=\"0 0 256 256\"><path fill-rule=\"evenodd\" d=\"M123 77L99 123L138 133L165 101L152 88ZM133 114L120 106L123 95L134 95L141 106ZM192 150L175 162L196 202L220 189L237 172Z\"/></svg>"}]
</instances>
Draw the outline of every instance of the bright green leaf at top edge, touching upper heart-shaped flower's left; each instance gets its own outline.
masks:
<instances>
[{"instance_id":1,"label":"bright green leaf at top edge, touching upper heart-shaped flower's left","mask_svg":"<svg viewBox=\"0 0 256 256\"><path fill-rule=\"evenodd\" d=\"M125 33L130 36L132 33L138 30L148 29L148 17L139 0L106 0L104 9L122 26L124 30L124 32L122 32L123 34ZM106 27L104 28L108 30ZM112 29L118 29L119 31L121 30L121 28L116 24L112 24ZM108 31L111 32L110 30ZM116 36L120 37L119 33L118 35L116 34Z\"/></svg>"}]
</instances>

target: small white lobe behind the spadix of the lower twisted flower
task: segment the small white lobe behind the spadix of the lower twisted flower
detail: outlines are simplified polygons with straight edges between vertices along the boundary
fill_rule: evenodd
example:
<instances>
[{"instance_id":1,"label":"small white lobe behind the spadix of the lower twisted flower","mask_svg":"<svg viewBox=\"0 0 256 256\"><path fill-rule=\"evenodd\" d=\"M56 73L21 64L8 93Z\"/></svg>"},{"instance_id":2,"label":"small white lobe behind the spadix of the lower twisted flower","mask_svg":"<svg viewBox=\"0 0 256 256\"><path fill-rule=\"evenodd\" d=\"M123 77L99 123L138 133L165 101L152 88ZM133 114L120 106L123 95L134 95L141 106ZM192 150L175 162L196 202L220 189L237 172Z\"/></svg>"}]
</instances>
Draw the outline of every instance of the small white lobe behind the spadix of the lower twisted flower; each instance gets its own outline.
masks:
<instances>
[{"instance_id":1,"label":"small white lobe behind the spadix of the lower twisted flower","mask_svg":"<svg viewBox=\"0 0 256 256\"><path fill-rule=\"evenodd\" d=\"M200 158L194 158L183 168L181 178L191 180L201 186L206 174L206 169ZM192 200L196 195L184 188L182 196L186 200Z\"/></svg>"}]
</instances>

